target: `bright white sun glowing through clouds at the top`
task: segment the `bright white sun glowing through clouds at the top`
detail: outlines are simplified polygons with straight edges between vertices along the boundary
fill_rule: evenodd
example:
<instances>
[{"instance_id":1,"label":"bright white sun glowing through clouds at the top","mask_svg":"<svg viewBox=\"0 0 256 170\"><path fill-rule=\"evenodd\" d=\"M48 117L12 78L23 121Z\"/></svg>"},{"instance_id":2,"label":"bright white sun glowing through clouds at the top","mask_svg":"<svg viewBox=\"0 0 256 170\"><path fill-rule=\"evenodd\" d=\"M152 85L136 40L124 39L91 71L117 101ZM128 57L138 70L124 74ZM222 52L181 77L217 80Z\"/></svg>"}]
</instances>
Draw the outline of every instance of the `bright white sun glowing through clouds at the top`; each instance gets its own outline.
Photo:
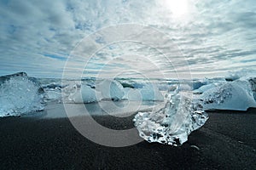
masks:
<instances>
[{"instance_id":1,"label":"bright white sun glowing through clouds at the top","mask_svg":"<svg viewBox=\"0 0 256 170\"><path fill-rule=\"evenodd\" d=\"M189 13L188 0L166 0L165 5L175 18L183 17Z\"/></svg>"}]
</instances>

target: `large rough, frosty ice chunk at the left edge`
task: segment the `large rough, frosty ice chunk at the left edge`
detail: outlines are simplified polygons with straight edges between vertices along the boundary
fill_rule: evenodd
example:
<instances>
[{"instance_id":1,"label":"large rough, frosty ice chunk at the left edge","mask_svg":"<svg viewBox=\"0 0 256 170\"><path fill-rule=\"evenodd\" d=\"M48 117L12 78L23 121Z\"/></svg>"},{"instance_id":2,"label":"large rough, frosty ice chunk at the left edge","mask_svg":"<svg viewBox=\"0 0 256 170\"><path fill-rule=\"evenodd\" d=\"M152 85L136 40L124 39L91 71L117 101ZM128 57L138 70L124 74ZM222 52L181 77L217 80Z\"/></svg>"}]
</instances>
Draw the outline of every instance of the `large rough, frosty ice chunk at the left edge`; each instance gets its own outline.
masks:
<instances>
[{"instance_id":1,"label":"large rough, frosty ice chunk at the left edge","mask_svg":"<svg viewBox=\"0 0 256 170\"><path fill-rule=\"evenodd\" d=\"M26 73L1 77L0 116L20 116L44 110L44 89Z\"/></svg>"}]
</instances>

